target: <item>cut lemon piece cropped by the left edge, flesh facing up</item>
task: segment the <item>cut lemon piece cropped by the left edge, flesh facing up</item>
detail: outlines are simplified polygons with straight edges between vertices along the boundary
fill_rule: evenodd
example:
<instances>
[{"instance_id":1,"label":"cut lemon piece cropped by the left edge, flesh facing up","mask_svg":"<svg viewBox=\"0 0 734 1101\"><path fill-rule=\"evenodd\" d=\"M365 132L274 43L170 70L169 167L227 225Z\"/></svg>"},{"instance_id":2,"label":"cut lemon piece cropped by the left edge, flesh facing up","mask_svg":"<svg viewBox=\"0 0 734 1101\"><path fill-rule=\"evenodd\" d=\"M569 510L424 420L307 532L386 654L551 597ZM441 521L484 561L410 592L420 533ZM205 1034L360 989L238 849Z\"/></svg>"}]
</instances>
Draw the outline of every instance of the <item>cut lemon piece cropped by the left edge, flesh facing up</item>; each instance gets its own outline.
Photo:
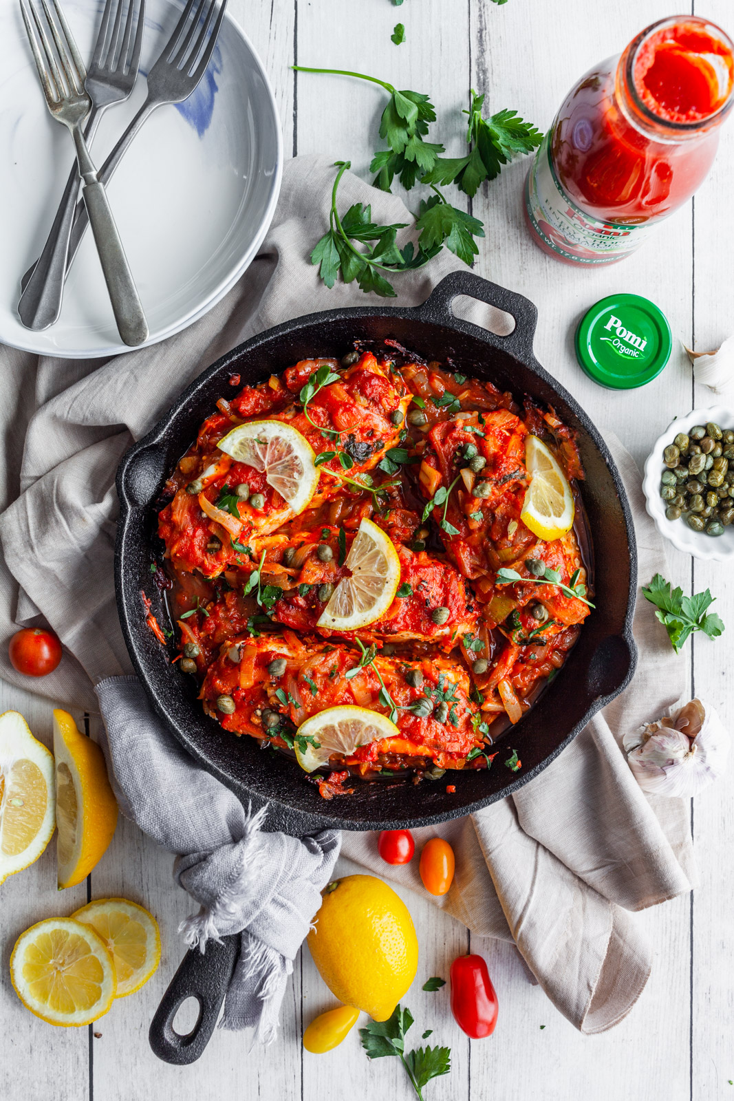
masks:
<instances>
[{"instance_id":1,"label":"cut lemon piece cropped by the left edge, flesh facing up","mask_svg":"<svg viewBox=\"0 0 734 1101\"><path fill-rule=\"evenodd\" d=\"M0 715L0 883L37 860L56 825L54 759L18 711Z\"/></svg>"}]
</instances>

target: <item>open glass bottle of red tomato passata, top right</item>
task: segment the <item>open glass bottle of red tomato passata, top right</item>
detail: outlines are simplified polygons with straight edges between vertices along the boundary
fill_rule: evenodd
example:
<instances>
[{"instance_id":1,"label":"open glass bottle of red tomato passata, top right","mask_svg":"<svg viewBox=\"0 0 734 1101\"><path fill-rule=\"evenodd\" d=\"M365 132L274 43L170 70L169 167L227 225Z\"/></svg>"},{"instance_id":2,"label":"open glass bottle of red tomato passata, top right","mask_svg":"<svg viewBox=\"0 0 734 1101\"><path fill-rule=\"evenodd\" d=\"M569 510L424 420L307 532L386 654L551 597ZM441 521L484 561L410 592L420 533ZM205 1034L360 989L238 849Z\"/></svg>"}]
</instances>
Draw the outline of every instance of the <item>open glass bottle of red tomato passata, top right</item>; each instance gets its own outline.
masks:
<instances>
[{"instance_id":1,"label":"open glass bottle of red tomato passata, top right","mask_svg":"<svg viewBox=\"0 0 734 1101\"><path fill-rule=\"evenodd\" d=\"M525 183L536 242L568 263L609 264L646 240L703 181L734 102L734 46L677 15L572 88Z\"/></svg>"}]
</instances>

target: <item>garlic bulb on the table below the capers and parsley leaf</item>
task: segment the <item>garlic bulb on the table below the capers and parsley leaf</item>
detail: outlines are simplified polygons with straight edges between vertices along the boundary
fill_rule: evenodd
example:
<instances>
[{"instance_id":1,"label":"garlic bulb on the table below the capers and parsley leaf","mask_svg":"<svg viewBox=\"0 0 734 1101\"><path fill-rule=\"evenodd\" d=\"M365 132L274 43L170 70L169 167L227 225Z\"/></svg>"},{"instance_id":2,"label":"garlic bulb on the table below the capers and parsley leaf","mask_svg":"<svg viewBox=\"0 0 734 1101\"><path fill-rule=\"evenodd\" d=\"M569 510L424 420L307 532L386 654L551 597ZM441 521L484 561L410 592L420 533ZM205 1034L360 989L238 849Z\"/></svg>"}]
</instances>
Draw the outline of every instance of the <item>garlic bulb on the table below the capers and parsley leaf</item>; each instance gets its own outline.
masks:
<instances>
[{"instance_id":1,"label":"garlic bulb on the table below the capers and parsley leaf","mask_svg":"<svg viewBox=\"0 0 734 1101\"><path fill-rule=\"evenodd\" d=\"M700 699L692 699L675 718L646 722L623 740L643 791L683 797L698 795L722 775L730 742L716 712Z\"/></svg>"}]
</instances>

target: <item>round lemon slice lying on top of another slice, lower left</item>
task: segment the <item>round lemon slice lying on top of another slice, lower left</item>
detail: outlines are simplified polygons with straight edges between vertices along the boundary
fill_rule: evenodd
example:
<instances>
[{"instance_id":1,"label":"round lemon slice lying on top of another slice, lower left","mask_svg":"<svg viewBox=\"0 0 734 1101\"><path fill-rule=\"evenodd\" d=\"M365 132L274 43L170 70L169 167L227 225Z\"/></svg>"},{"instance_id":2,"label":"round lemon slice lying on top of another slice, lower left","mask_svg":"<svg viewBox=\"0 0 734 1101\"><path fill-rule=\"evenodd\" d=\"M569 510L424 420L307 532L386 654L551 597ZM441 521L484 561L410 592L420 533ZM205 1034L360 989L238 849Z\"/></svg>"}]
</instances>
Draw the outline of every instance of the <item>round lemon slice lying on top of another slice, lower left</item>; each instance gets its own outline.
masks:
<instances>
[{"instance_id":1,"label":"round lemon slice lying on top of another slice, lower left","mask_svg":"<svg viewBox=\"0 0 734 1101\"><path fill-rule=\"evenodd\" d=\"M89 1025L107 1013L117 985L105 941L69 917L50 917L20 935L10 978L26 1010L67 1028Z\"/></svg>"}]
</instances>

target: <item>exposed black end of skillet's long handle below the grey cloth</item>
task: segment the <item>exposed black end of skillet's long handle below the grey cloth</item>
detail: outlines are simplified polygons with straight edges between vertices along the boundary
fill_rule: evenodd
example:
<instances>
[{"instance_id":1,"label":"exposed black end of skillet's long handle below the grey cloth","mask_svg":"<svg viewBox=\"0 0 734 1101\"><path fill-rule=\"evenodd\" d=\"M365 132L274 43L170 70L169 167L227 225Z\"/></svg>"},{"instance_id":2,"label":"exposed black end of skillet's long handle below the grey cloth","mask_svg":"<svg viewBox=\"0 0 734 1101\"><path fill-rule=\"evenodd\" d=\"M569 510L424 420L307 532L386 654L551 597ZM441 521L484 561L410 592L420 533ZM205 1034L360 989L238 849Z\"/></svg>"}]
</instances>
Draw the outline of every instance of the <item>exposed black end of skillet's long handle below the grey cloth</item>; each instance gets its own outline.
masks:
<instances>
[{"instance_id":1,"label":"exposed black end of skillet's long handle below the grey cloth","mask_svg":"<svg viewBox=\"0 0 734 1101\"><path fill-rule=\"evenodd\" d=\"M209 940L204 952L189 948L161 999L147 1038L153 1053L164 1062L186 1066L195 1062L209 1043L240 948L239 936ZM199 1016L187 1036L174 1032L173 1021L187 998L199 1003Z\"/></svg>"}]
</instances>

